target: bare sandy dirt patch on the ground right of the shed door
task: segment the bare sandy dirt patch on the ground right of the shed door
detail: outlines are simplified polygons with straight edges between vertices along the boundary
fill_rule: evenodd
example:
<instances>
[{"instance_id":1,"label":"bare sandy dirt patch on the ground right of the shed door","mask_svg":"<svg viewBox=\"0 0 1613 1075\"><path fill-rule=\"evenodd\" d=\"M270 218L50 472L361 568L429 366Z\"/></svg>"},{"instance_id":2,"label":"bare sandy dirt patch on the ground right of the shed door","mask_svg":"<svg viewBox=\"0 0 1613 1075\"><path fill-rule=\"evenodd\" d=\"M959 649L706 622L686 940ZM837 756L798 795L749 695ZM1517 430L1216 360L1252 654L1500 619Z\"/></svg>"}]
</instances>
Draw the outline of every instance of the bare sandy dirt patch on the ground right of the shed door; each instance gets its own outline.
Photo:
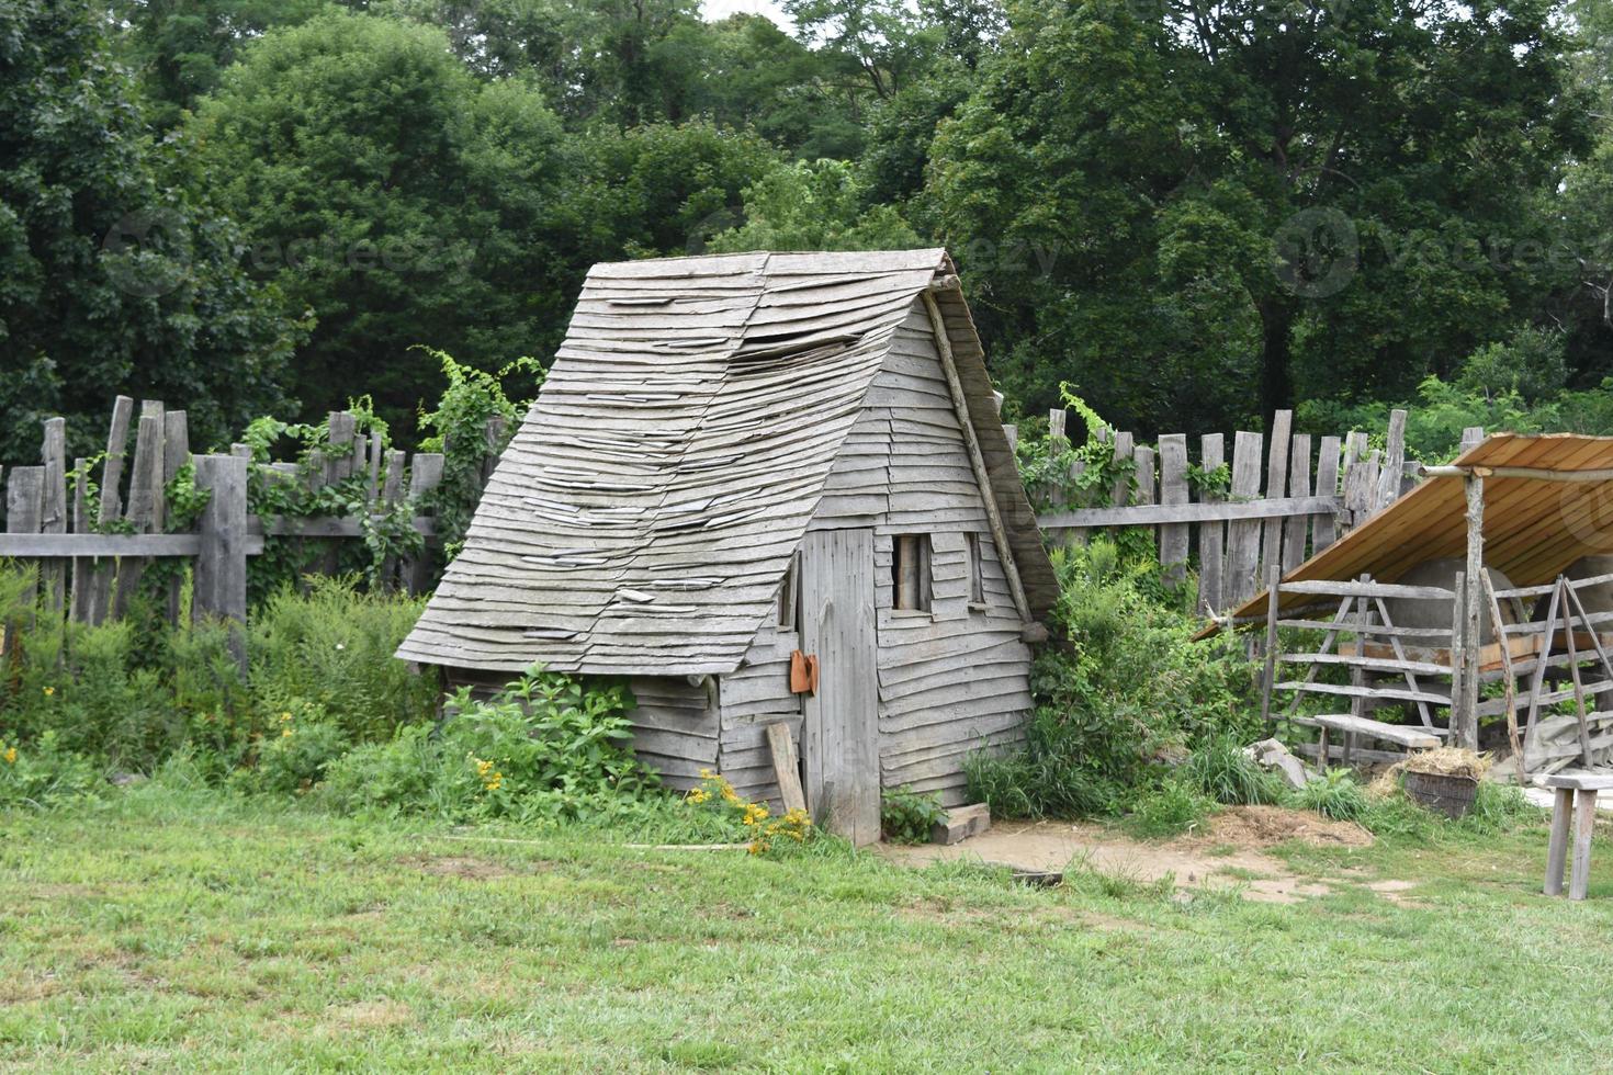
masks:
<instances>
[{"instance_id":1,"label":"bare sandy dirt patch on the ground right of the shed door","mask_svg":"<svg viewBox=\"0 0 1613 1075\"><path fill-rule=\"evenodd\" d=\"M1371 835L1358 825L1274 806L1239 806L1216 814L1207 832L1165 843L1129 840L1110 828L1069 822L1000 822L950 848L882 845L881 854L910 865L982 861L1026 872L1094 870L1137 883L1173 878L1177 885L1236 888L1258 903L1298 903L1329 888L1295 877L1266 848L1303 840L1365 846Z\"/></svg>"}]
</instances>

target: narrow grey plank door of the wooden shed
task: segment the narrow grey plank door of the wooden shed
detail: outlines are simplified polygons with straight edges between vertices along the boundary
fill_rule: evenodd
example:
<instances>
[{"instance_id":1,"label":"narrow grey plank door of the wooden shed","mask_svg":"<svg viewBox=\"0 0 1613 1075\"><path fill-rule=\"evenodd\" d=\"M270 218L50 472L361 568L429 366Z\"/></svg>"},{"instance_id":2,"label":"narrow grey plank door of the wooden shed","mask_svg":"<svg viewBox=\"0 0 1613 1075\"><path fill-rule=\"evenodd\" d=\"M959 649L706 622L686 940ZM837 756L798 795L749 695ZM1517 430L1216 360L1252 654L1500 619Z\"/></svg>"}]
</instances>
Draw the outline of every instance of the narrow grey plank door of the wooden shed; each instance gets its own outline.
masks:
<instances>
[{"instance_id":1,"label":"narrow grey plank door of the wooden shed","mask_svg":"<svg viewBox=\"0 0 1613 1075\"><path fill-rule=\"evenodd\" d=\"M802 543L802 651L818 656L806 695L806 809L855 843L879 840L879 688L874 682L874 532L821 530Z\"/></svg>"}]
</instances>

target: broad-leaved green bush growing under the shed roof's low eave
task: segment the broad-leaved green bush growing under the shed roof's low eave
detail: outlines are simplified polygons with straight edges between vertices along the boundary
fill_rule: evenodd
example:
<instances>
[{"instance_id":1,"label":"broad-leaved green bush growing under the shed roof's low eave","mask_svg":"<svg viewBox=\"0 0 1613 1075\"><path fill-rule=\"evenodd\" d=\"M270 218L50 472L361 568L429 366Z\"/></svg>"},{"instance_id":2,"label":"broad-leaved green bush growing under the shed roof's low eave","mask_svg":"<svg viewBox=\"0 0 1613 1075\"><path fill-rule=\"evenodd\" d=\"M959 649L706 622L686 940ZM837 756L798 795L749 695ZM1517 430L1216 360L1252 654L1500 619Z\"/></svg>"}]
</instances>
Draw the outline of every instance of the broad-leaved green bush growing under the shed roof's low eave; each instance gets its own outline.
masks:
<instances>
[{"instance_id":1,"label":"broad-leaved green bush growing under the shed roof's low eave","mask_svg":"<svg viewBox=\"0 0 1613 1075\"><path fill-rule=\"evenodd\" d=\"M656 783L629 745L631 704L623 687L537 670L486 701L461 690L439 728L402 727L336 761L321 795L348 811L576 817Z\"/></svg>"}]
</instances>

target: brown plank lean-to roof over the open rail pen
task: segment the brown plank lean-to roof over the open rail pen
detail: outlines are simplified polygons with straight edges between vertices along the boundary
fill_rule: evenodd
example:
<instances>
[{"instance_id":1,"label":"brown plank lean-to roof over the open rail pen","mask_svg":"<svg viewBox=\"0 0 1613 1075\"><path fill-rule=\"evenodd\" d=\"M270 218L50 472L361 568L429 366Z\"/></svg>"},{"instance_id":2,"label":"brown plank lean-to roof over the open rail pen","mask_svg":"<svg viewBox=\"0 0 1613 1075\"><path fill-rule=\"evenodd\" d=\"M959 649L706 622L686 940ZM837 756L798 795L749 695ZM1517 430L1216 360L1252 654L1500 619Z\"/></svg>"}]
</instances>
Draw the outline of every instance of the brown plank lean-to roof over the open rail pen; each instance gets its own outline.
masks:
<instances>
[{"instance_id":1,"label":"brown plank lean-to roof over the open rail pen","mask_svg":"<svg viewBox=\"0 0 1613 1075\"><path fill-rule=\"evenodd\" d=\"M1455 464L1431 467L1416 488L1284 582L1337 582L1361 574L1395 582L1424 561L1465 556L1463 475L1469 471L1484 477L1484 562L1515 585L1552 582L1581 556L1613 551L1613 437L1495 434ZM1284 593L1281 606L1307 600ZM1266 601L1261 590L1232 611L1231 622L1265 614Z\"/></svg>"}]
</instances>

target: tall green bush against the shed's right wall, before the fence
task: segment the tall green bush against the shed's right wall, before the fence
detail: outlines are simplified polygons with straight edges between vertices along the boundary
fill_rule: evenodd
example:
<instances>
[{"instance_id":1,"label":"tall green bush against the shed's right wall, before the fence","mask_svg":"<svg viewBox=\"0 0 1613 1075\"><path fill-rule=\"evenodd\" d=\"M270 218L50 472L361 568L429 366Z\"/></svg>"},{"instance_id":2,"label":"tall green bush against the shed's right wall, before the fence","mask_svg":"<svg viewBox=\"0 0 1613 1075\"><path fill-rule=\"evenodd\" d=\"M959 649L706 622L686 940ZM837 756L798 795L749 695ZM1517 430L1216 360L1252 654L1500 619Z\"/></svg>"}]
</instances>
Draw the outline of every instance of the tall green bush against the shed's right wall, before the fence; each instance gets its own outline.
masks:
<instances>
[{"instance_id":1,"label":"tall green bush against the shed's right wall, before the fence","mask_svg":"<svg viewBox=\"0 0 1613 1075\"><path fill-rule=\"evenodd\" d=\"M1058 637L1032 667L1026 748L966 766L994 816L1118 814L1158 780L1157 759L1260 732L1242 641L1194 641L1200 621L1152 556L1097 540L1053 562Z\"/></svg>"}]
</instances>

